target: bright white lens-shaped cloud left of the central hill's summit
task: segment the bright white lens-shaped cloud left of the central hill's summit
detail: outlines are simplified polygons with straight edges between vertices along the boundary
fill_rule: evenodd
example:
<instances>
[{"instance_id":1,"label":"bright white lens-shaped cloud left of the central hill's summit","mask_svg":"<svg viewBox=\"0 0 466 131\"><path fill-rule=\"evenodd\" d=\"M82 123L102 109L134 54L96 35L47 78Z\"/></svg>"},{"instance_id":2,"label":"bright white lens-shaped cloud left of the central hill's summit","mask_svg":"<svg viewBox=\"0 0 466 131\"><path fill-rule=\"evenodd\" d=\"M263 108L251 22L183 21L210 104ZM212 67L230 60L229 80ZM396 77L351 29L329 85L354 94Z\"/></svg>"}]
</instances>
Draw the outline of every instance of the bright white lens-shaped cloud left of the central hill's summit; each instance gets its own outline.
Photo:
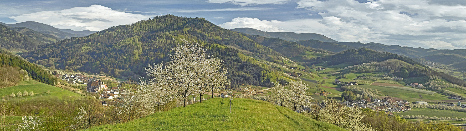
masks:
<instances>
[{"instance_id":1,"label":"bright white lens-shaped cloud left of the central hill's summit","mask_svg":"<svg viewBox=\"0 0 466 131\"><path fill-rule=\"evenodd\" d=\"M36 21L56 28L100 31L111 26L131 24L139 20L146 20L152 16L135 13L124 13L101 5L90 7L73 7L60 11L41 11L12 16L18 22Z\"/></svg>"}]
</instances>

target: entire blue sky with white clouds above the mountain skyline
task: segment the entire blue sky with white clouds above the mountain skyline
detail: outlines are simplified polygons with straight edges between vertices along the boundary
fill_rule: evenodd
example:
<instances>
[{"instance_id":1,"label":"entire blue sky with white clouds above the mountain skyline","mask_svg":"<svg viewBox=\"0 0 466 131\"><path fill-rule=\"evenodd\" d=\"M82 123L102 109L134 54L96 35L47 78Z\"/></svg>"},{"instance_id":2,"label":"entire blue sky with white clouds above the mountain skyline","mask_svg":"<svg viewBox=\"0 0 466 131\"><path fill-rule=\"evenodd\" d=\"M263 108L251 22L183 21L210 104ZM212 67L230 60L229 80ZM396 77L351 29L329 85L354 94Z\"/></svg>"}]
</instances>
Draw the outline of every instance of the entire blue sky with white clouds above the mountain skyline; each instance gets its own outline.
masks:
<instances>
[{"instance_id":1,"label":"entire blue sky with white clouds above the mountain skyline","mask_svg":"<svg viewBox=\"0 0 466 131\"><path fill-rule=\"evenodd\" d=\"M0 0L0 22L36 21L75 31L165 14L203 17L226 29L466 49L466 0Z\"/></svg>"}]
</instances>

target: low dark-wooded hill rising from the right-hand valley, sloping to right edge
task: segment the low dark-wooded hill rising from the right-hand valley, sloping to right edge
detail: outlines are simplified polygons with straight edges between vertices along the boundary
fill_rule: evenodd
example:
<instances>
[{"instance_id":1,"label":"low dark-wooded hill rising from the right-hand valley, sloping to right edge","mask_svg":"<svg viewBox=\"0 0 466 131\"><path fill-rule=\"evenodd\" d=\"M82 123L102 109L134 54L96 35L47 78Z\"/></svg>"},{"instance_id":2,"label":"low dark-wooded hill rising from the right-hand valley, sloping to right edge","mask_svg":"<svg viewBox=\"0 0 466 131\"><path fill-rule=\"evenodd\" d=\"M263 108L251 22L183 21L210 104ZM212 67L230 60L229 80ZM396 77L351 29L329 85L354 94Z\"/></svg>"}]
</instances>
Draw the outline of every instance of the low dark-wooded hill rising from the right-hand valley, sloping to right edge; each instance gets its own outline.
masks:
<instances>
[{"instance_id":1,"label":"low dark-wooded hill rising from the right-hand valley, sloping to right edge","mask_svg":"<svg viewBox=\"0 0 466 131\"><path fill-rule=\"evenodd\" d=\"M380 62L384 61L387 59L399 59L401 61L404 61L408 64L411 64L413 66L405 68L410 75L409 76L439 76L442 79L445 79L446 81L456 84L456 85L462 85L466 86L466 82L462 79L458 79L456 77L453 77L451 75L448 75L443 72L436 72L429 67L422 65L421 63L418 63L410 58L403 57L397 54L393 54L390 52L376 52L368 48L360 48L358 50L356 49L350 49L347 51L343 51L340 53L337 53L335 55L329 55L329 56L323 56L323 57L318 57L315 59L311 59L310 64L318 64L322 62L326 62L327 65L338 65L338 64L343 64L343 63L351 63L354 65L357 64L363 64L363 63L370 63L370 62ZM402 67L398 67L397 70L400 71Z\"/></svg>"}]
</instances>

